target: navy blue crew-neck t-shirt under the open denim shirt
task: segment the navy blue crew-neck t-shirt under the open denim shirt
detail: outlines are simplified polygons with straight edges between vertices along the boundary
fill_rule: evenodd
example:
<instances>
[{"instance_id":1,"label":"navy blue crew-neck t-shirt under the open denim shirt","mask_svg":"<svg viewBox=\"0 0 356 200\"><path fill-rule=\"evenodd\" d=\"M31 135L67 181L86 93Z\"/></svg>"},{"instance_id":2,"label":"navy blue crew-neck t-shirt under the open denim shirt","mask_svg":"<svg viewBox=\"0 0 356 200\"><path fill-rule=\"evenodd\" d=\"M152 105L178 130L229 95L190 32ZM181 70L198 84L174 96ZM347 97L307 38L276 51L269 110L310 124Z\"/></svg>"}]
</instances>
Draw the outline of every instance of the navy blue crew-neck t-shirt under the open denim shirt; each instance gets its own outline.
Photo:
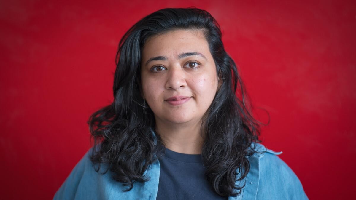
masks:
<instances>
[{"instance_id":1,"label":"navy blue crew-neck t-shirt under the open denim shirt","mask_svg":"<svg viewBox=\"0 0 356 200\"><path fill-rule=\"evenodd\" d=\"M205 179L201 154L184 154L166 148L161 165L157 200L226 199L215 193Z\"/></svg>"}]
</instances>

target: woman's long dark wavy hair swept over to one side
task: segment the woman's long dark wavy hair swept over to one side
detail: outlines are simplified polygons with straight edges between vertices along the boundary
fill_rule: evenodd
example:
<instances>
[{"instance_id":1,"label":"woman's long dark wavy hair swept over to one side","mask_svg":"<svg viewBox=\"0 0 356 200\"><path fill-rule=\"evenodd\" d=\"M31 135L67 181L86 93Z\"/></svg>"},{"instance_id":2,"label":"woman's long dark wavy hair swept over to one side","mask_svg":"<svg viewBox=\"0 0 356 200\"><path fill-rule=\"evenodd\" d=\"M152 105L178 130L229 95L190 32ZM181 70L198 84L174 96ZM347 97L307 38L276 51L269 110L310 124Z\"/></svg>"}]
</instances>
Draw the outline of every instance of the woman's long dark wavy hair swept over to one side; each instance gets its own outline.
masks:
<instances>
[{"instance_id":1,"label":"woman's long dark wavy hair swept over to one side","mask_svg":"<svg viewBox=\"0 0 356 200\"><path fill-rule=\"evenodd\" d=\"M122 37L116 55L114 101L94 112L88 121L94 141L91 162L108 164L112 178L131 190L145 182L143 173L163 155L164 144L155 130L152 110L140 94L141 53L146 40L173 30L201 30L209 43L216 70L223 83L203 117L202 158L206 179L220 196L238 196L244 185L235 185L250 170L250 146L260 142L260 122L251 115L245 88L234 60L225 52L216 20L197 8L167 8L153 12ZM157 142L162 145L157 145ZM163 149L163 150L162 150Z\"/></svg>"}]
</instances>

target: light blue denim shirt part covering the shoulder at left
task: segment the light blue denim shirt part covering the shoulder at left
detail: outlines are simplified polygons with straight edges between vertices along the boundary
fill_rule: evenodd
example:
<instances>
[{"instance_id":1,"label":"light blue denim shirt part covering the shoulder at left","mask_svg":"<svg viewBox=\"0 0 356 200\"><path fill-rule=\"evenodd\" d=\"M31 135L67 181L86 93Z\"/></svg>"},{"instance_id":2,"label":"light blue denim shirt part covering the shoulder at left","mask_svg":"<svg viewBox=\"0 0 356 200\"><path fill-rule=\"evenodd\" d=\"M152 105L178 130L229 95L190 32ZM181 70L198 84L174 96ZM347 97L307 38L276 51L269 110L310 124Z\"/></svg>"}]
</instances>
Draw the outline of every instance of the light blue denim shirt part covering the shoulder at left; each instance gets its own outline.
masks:
<instances>
[{"instance_id":1,"label":"light blue denim shirt part covering the shoulder at left","mask_svg":"<svg viewBox=\"0 0 356 200\"><path fill-rule=\"evenodd\" d=\"M157 195L155 188L159 180L159 163L152 165L144 175L150 177L147 184L133 182L129 191L121 182L114 180L108 164L93 164L90 156L93 149L89 149L82 159L75 165L72 172L58 189L53 199L149 199Z\"/></svg>"}]
</instances>

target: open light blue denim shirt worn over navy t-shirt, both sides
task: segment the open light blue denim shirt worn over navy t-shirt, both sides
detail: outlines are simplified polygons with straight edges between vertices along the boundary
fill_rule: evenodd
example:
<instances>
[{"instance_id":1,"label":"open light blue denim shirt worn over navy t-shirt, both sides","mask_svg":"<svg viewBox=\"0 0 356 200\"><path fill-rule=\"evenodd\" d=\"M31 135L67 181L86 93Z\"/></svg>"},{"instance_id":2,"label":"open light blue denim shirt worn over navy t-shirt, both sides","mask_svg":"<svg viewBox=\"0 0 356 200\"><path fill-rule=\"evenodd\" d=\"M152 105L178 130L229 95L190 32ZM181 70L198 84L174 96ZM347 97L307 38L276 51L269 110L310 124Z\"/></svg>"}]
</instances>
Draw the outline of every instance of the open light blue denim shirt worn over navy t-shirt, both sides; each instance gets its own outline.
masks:
<instances>
[{"instance_id":1,"label":"open light blue denim shirt worn over navy t-shirt, both sides","mask_svg":"<svg viewBox=\"0 0 356 200\"><path fill-rule=\"evenodd\" d=\"M259 143L256 143L256 150L262 153L255 153L248 158L250 171L245 179L236 181L236 185L245 184L242 193L237 197L230 196L229 200L308 199L298 177L277 156L282 152L274 152ZM135 182L133 188L125 192L122 191L125 189L122 183L112 179L110 170L104 175L94 170L88 152L74 167L53 199L156 199L160 168L158 160L145 172L150 177L149 181Z\"/></svg>"}]
</instances>

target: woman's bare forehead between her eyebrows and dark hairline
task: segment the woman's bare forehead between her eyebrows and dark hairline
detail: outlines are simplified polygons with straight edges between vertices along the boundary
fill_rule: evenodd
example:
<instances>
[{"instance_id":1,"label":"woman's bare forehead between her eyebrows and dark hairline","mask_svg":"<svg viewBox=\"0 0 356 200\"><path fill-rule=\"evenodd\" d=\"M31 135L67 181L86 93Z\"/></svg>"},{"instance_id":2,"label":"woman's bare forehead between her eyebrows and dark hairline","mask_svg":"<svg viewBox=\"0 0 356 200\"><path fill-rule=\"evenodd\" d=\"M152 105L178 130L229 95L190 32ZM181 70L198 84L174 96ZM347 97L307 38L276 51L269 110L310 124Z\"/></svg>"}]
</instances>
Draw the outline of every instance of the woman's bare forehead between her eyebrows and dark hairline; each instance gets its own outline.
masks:
<instances>
[{"instance_id":1,"label":"woman's bare forehead between her eyebrows and dark hairline","mask_svg":"<svg viewBox=\"0 0 356 200\"><path fill-rule=\"evenodd\" d=\"M169 56L188 51L209 52L203 30L174 30L148 38L142 49L142 61L152 56Z\"/></svg>"}]
</instances>

